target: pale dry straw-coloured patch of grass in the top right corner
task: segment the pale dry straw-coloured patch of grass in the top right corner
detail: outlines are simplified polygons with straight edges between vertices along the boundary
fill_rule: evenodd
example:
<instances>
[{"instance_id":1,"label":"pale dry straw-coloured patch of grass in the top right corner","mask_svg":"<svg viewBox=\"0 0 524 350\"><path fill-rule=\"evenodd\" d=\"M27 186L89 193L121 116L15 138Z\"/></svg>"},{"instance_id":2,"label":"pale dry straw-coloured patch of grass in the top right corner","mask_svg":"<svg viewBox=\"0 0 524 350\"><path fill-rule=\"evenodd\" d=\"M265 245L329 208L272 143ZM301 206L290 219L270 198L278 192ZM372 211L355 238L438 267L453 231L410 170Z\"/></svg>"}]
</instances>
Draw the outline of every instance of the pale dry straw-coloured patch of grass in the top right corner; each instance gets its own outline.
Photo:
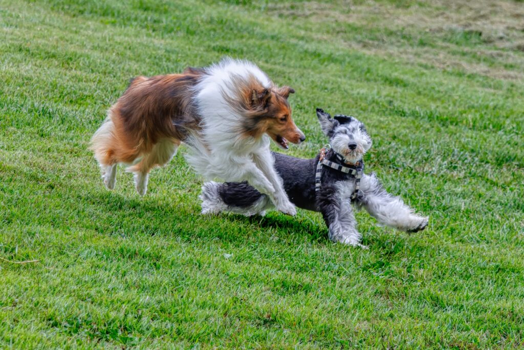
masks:
<instances>
[{"instance_id":1,"label":"pale dry straw-coloured patch of grass in the top right corner","mask_svg":"<svg viewBox=\"0 0 524 350\"><path fill-rule=\"evenodd\" d=\"M374 1L304 2L272 4L269 12L331 27L340 24L340 30L334 30L344 45L373 55L497 79L524 77L522 3L440 0L396 6ZM355 33L358 27L372 29L375 35ZM318 37L332 39L332 35L333 30Z\"/></svg>"}]
</instances>

